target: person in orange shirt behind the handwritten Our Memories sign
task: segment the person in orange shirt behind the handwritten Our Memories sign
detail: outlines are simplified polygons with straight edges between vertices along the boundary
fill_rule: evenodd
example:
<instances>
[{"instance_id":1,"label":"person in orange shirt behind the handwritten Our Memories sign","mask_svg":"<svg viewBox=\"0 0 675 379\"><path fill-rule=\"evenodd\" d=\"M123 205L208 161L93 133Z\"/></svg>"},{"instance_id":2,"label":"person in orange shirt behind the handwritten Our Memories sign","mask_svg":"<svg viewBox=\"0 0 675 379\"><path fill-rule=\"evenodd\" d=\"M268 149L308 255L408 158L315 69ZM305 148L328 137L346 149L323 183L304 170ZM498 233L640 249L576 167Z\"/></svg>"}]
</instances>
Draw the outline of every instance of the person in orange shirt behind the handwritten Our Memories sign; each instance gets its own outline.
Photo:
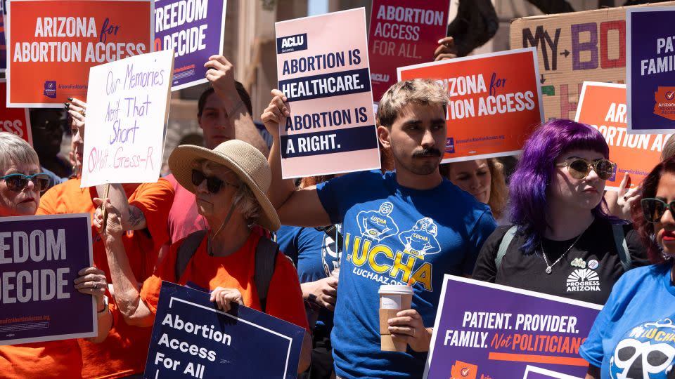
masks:
<instances>
[{"instance_id":1,"label":"person in orange shirt behind the handwritten Our Memories sign","mask_svg":"<svg viewBox=\"0 0 675 379\"><path fill-rule=\"evenodd\" d=\"M82 172L84 150L84 114L86 104L77 99L67 105L72 119L72 143L75 147L75 159L78 173ZM44 194L38 214L52 215L61 213L89 213L96 211L94 198L104 192L103 186L80 188L80 177L52 187ZM124 247L129 253L131 270L140 281L153 273L155 262L167 235L167 215L171 207L174 190L164 179L156 183L110 185L109 198L122 211L122 227L126 232L122 237ZM105 256L105 247L101 235L92 227L94 264L105 272L108 283L110 267ZM84 367L84 378L122 378L143 373L150 343L152 328L128 324L120 314L115 302L115 291L108 291L111 310L115 315L115 325L108 338L101 344L92 344L80 340Z\"/></svg>"}]
</instances>

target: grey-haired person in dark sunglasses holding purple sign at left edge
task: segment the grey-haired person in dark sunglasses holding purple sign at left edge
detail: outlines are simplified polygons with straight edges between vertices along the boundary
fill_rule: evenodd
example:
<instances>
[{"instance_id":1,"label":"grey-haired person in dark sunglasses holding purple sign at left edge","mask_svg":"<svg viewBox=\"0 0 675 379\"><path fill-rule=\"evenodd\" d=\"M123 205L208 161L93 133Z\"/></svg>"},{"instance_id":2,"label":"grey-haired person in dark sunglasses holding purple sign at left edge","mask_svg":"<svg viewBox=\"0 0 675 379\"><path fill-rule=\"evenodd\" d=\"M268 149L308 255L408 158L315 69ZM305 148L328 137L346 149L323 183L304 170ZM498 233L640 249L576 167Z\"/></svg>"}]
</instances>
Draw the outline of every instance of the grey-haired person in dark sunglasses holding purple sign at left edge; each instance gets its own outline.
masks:
<instances>
[{"instance_id":1,"label":"grey-haired person in dark sunglasses holding purple sign at left edge","mask_svg":"<svg viewBox=\"0 0 675 379\"><path fill-rule=\"evenodd\" d=\"M0 132L0 175L0 217L34 215L49 176L41 173L38 156L28 142L12 133ZM89 341L100 343L113 324L105 297L108 282L96 267L85 267L77 274L77 291L96 298L98 335ZM81 371L77 340L0 346L3 378L81 378Z\"/></svg>"}]
</instances>

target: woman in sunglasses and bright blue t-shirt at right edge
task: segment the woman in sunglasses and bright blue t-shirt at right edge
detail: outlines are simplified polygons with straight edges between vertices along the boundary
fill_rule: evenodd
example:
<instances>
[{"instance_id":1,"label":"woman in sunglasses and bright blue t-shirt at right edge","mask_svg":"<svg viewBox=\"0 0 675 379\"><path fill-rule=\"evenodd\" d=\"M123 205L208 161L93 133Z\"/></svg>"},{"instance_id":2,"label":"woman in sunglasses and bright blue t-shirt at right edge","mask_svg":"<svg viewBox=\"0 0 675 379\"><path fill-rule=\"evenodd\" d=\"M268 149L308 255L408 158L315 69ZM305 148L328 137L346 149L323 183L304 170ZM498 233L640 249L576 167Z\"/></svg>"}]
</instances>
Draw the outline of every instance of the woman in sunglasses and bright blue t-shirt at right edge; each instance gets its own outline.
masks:
<instances>
[{"instance_id":1,"label":"woman in sunglasses and bright blue t-shirt at right edge","mask_svg":"<svg viewBox=\"0 0 675 379\"><path fill-rule=\"evenodd\" d=\"M675 159L642 182L635 227L654 265L624 274L598 314L579 354L586 379L675 375Z\"/></svg>"}]
</instances>

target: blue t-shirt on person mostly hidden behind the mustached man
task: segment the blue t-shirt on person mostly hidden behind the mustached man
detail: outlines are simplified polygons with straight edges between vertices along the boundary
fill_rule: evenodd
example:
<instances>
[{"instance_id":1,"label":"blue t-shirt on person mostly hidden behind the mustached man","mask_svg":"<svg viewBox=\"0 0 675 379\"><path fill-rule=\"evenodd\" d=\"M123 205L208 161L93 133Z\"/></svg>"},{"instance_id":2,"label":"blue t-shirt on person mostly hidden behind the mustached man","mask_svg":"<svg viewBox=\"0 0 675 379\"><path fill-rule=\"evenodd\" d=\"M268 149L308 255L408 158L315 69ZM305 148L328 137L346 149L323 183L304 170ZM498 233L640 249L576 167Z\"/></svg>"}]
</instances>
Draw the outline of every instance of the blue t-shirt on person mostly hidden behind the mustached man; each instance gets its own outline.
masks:
<instances>
[{"instance_id":1,"label":"blue t-shirt on person mostly hidden behind the mustached man","mask_svg":"<svg viewBox=\"0 0 675 379\"><path fill-rule=\"evenodd\" d=\"M341 227L338 225L338 232ZM300 283L309 283L329 277L338 268L342 246L335 241L335 232L326 234L314 227L293 227L281 225L276 232L279 250L293 260L297 267ZM327 335L333 327L333 312L321 307L317 325L327 328Z\"/></svg>"}]
</instances>

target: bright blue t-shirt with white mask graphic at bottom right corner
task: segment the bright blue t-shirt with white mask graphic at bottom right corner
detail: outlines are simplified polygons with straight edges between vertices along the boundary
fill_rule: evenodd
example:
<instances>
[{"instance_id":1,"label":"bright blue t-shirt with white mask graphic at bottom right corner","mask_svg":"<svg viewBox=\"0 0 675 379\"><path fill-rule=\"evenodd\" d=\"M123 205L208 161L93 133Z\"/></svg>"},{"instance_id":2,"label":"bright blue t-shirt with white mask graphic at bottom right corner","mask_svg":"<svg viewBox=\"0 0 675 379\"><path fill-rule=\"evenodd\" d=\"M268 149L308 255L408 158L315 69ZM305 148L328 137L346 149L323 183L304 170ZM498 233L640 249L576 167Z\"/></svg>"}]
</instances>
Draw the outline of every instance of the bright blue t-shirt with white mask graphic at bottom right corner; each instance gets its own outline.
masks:
<instances>
[{"instance_id":1,"label":"bright blue t-shirt with white mask graphic at bottom right corner","mask_svg":"<svg viewBox=\"0 0 675 379\"><path fill-rule=\"evenodd\" d=\"M639 267L617 281L579 354L601 378L675 378L675 287L671 263Z\"/></svg>"}]
</instances>

